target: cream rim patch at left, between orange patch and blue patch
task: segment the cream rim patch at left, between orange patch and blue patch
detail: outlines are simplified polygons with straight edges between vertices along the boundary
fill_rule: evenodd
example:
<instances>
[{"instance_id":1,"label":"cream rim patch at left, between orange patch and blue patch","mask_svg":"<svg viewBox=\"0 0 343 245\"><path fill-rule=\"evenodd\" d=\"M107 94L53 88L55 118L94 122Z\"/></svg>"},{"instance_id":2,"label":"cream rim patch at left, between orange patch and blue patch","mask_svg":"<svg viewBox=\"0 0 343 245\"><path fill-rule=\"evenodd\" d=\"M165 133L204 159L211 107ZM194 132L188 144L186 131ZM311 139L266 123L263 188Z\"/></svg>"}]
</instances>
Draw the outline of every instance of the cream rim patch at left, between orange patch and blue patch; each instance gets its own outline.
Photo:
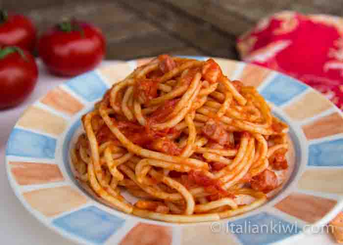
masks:
<instances>
[{"instance_id":1,"label":"cream rim patch at left, between orange patch and blue patch","mask_svg":"<svg viewBox=\"0 0 343 245\"><path fill-rule=\"evenodd\" d=\"M67 127L67 122L63 117L31 106L19 119L18 125L28 129L35 129L45 133L59 135Z\"/></svg>"}]
</instances>

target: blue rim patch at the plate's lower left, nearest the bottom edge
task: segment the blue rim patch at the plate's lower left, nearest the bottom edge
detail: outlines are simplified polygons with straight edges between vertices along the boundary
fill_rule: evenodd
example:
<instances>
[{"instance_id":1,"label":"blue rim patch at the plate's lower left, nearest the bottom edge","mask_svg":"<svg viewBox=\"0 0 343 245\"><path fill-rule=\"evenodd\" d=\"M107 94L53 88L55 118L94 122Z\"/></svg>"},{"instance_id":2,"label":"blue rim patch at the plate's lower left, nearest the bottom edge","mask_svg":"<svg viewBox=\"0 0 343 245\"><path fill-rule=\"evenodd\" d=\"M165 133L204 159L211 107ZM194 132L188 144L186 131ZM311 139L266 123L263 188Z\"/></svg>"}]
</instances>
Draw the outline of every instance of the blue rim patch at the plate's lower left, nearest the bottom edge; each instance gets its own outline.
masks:
<instances>
[{"instance_id":1,"label":"blue rim patch at the plate's lower left, nearest the bottom edge","mask_svg":"<svg viewBox=\"0 0 343 245\"><path fill-rule=\"evenodd\" d=\"M90 206L60 217L52 223L91 243L102 244L123 226L125 220Z\"/></svg>"}]
</instances>

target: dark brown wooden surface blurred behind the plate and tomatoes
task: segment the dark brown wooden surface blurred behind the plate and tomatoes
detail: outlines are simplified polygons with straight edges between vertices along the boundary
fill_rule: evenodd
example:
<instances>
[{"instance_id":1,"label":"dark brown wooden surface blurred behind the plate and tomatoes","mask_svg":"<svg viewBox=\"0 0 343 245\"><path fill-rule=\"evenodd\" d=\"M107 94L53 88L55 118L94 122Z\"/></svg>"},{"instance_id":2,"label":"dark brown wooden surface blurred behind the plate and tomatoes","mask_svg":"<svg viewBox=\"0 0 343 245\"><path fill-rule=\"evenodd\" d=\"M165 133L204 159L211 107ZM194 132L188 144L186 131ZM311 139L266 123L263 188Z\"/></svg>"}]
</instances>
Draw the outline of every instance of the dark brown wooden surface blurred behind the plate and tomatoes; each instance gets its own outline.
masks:
<instances>
[{"instance_id":1,"label":"dark brown wooden surface blurred behind the plate and tomatoes","mask_svg":"<svg viewBox=\"0 0 343 245\"><path fill-rule=\"evenodd\" d=\"M107 39L107 59L160 53L239 59L236 37L281 10L343 15L343 0L0 0L42 32L68 18L93 22Z\"/></svg>"}]
</instances>

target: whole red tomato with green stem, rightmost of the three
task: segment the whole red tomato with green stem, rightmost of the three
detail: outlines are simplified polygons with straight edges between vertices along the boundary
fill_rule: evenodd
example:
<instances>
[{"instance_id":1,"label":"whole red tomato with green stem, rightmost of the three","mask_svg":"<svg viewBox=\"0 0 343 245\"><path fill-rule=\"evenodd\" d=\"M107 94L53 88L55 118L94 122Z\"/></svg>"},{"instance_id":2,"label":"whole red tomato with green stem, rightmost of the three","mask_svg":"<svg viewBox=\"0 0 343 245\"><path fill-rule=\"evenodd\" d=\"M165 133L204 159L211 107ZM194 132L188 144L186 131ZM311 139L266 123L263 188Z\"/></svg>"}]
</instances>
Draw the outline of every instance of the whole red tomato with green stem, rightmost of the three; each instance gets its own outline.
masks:
<instances>
[{"instance_id":1,"label":"whole red tomato with green stem, rightmost of the three","mask_svg":"<svg viewBox=\"0 0 343 245\"><path fill-rule=\"evenodd\" d=\"M95 26L79 21L63 22L44 33L39 55L50 72L74 76L96 67L105 54L105 39Z\"/></svg>"}]
</instances>

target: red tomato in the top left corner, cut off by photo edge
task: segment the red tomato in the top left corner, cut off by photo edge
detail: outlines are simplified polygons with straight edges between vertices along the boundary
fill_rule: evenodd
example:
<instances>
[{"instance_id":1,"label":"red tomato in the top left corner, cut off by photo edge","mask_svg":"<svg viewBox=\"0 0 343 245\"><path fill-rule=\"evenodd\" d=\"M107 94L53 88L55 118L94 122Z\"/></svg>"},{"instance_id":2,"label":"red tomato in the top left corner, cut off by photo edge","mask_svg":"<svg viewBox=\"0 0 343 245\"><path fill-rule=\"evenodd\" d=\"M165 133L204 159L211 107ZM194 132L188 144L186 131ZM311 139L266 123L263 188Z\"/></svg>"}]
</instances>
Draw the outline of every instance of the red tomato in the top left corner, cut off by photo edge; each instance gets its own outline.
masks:
<instances>
[{"instance_id":1,"label":"red tomato in the top left corner, cut off by photo edge","mask_svg":"<svg viewBox=\"0 0 343 245\"><path fill-rule=\"evenodd\" d=\"M0 46L18 46L30 52L36 43L36 28L23 15L0 11Z\"/></svg>"}]
</instances>

